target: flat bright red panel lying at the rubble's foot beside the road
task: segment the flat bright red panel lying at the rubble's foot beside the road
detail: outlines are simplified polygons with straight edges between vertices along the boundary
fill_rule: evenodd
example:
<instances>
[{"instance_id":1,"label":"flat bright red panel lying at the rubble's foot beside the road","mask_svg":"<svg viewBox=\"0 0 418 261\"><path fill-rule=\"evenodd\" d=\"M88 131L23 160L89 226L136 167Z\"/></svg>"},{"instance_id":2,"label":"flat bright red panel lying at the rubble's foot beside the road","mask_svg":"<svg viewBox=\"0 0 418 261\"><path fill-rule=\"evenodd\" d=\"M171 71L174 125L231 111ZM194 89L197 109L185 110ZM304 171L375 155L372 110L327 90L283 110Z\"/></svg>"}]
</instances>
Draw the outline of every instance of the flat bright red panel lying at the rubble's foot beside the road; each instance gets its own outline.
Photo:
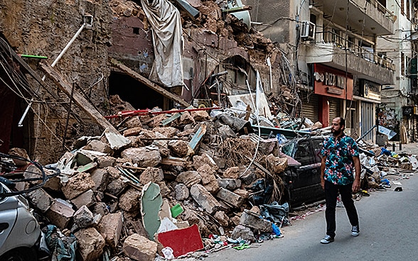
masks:
<instances>
[{"instance_id":1,"label":"flat bright red panel lying at the rubble's foot beside the road","mask_svg":"<svg viewBox=\"0 0 418 261\"><path fill-rule=\"evenodd\" d=\"M173 249L174 257L203 249L202 238L196 224L188 228L159 233L158 240L164 248Z\"/></svg>"}]
</instances>

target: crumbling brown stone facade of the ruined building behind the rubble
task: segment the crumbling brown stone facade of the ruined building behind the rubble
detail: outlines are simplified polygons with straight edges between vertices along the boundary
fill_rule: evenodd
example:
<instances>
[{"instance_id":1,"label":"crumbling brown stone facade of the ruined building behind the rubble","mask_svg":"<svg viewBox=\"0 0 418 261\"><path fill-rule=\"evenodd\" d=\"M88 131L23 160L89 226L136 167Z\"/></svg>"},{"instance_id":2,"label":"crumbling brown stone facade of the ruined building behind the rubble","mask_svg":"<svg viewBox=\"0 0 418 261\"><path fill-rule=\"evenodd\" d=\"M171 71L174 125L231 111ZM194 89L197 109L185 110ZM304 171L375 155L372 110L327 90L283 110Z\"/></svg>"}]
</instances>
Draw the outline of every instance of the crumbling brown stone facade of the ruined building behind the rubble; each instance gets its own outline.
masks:
<instances>
[{"instance_id":1,"label":"crumbling brown stone facade of the ruined building behind the rubble","mask_svg":"<svg viewBox=\"0 0 418 261\"><path fill-rule=\"evenodd\" d=\"M68 149L73 138L99 135L103 126L91 124L92 116L76 102L71 104L72 95L73 99L83 96L83 101L105 116L127 109L112 106L109 97L114 94L134 109L171 109L188 104L226 106L228 95L247 94L248 85L255 92L257 71L266 94L281 91L281 53L271 40L254 30L250 32L245 23L223 11L226 3L193 1L191 9L199 13L196 18L179 8L183 70L177 71L183 74L183 86L147 81L154 66L155 46L151 23L139 3L1 1L0 5L2 52L7 54L7 48L12 48L19 55L36 56L23 56L23 60L38 75L45 75L43 87L23 67L8 65L21 69L16 73L23 78L27 75L27 79L22 84L25 88L13 87L13 81L1 84L2 90L11 92L2 96L5 102L1 102L9 112L1 121L8 130L1 137L3 152L13 147L26 148L31 157L50 162ZM53 64L68 44L66 52L50 68L49 74L60 74L54 79L39 64ZM114 65L112 59L126 67ZM61 78L68 81L67 91L60 89ZM15 91L7 91L10 88L6 84ZM28 104L28 115L22 117Z\"/></svg>"}]
</instances>

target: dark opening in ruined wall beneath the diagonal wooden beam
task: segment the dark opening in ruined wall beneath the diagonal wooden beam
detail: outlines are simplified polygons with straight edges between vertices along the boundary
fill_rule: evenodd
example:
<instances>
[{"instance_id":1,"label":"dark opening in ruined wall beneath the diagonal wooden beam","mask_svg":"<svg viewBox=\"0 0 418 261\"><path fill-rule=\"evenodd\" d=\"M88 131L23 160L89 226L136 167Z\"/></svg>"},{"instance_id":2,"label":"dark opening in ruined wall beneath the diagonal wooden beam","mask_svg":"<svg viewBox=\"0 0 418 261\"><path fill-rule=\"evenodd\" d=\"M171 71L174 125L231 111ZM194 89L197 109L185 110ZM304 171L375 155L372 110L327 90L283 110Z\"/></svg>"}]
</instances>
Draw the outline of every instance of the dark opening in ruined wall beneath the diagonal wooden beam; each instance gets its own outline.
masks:
<instances>
[{"instance_id":1,"label":"dark opening in ruined wall beneath the diagonal wooden beam","mask_svg":"<svg viewBox=\"0 0 418 261\"><path fill-rule=\"evenodd\" d=\"M164 106L166 99L163 95L127 74L110 73L109 94L119 95L122 100L129 102L135 109L152 109L157 106L166 109L166 106Z\"/></svg>"}]
</instances>

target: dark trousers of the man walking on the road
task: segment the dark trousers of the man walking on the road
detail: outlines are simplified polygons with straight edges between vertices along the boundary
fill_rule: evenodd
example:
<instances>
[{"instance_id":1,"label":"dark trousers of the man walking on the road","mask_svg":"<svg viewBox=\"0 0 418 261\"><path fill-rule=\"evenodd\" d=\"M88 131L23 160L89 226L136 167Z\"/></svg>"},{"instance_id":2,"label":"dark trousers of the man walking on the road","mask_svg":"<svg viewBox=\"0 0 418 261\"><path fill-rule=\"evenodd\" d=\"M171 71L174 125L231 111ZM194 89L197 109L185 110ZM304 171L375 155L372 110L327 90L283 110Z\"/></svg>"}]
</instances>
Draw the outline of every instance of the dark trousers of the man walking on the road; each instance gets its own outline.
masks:
<instances>
[{"instance_id":1,"label":"dark trousers of the man walking on the road","mask_svg":"<svg viewBox=\"0 0 418 261\"><path fill-rule=\"evenodd\" d=\"M358 215L354 206L352 187L353 184L336 185L325 181L324 189L326 200L326 234L330 235L332 238L336 236L336 205L338 191L340 191L341 201L343 201L345 211L347 211L348 220L350 220L351 226L358 226Z\"/></svg>"}]
</instances>

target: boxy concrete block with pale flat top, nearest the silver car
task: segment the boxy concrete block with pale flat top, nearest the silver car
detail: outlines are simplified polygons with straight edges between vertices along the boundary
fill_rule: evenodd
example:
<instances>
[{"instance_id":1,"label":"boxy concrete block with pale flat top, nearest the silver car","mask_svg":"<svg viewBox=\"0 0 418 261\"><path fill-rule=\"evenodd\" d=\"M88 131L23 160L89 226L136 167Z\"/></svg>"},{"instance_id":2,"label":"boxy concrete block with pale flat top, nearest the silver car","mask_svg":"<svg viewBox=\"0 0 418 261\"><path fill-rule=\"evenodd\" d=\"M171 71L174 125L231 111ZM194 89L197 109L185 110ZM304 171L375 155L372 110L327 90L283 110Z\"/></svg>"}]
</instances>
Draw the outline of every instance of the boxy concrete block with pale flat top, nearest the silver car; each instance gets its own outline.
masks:
<instances>
[{"instance_id":1,"label":"boxy concrete block with pale flat top, nearest the silver car","mask_svg":"<svg viewBox=\"0 0 418 261\"><path fill-rule=\"evenodd\" d=\"M55 199L48 211L46 211L45 216L55 226L64 229L67 227L71 218L73 218L73 214L73 206L70 203L63 199Z\"/></svg>"}]
</instances>

